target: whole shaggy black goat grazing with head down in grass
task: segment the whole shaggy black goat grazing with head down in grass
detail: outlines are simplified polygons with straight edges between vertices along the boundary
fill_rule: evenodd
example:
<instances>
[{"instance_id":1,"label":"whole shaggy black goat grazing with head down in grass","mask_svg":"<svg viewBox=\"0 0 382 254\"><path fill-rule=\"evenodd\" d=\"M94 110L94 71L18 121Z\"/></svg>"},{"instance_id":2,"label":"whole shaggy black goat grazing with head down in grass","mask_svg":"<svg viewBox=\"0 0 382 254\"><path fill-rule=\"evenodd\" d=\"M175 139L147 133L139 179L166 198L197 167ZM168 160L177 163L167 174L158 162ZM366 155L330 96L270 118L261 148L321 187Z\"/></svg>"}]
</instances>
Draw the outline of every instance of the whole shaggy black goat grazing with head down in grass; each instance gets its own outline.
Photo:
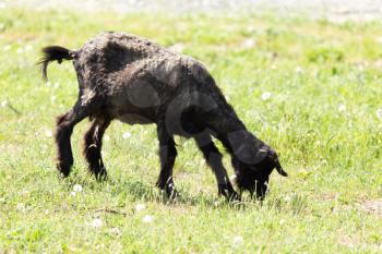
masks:
<instances>
[{"instance_id":1,"label":"whole shaggy black goat grazing with head down in grass","mask_svg":"<svg viewBox=\"0 0 382 254\"><path fill-rule=\"evenodd\" d=\"M212 136L231 155L240 190L263 198L274 168L287 173L276 153L247 131L207 70L196 60L126 33L102 33L79 50L60 46L43 49L43 75L51 61L73 60L80 85L74 107L57 120L57 168L68 177L73 156L70 136L76 123L89 117L92 125L84 140L89 171L106 178L100 155L102 138L111 120L156 123L159 140L160 174L156 185L168 196L177 194L172 167L177 156L174 135L193 137L215 173L218 193L240 198L235 192L222 154Z\"/></svg>"}]
</instances>

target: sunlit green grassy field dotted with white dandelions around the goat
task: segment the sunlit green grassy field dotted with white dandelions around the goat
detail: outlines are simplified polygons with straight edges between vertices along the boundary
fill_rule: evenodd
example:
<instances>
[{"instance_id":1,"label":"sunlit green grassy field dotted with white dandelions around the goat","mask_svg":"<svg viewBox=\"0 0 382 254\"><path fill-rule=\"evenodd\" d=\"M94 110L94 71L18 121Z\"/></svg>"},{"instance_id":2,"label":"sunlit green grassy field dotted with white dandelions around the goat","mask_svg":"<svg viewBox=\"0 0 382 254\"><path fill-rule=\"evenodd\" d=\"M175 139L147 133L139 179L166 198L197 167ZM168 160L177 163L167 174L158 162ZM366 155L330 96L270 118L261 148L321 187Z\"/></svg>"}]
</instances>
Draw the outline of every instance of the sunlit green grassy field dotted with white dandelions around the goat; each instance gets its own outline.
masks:
<instances>
[{"instance_id":1,"label":"sunlit green grassy field dotted with white dandelions around the goat","mask_svg":"<svg viewBox=\"0 0 382 254\"><path fill-rule=\"evenodd\" d=\"M79 48L100 31L139 34L202 61L289 178L273 173L263 204L229 205L193 141L177 138L182 196L169 203L154 188L154 125L111 124L109 180L98 183L81 155L83 121L72 136L73 172L59 180L55 117L74 104L77 83L70 62L51 64L49 83L35 62L44 46ZM4 9L0 90L0 253L382 251L381 23Z\"/></svg>"}]
</instances>

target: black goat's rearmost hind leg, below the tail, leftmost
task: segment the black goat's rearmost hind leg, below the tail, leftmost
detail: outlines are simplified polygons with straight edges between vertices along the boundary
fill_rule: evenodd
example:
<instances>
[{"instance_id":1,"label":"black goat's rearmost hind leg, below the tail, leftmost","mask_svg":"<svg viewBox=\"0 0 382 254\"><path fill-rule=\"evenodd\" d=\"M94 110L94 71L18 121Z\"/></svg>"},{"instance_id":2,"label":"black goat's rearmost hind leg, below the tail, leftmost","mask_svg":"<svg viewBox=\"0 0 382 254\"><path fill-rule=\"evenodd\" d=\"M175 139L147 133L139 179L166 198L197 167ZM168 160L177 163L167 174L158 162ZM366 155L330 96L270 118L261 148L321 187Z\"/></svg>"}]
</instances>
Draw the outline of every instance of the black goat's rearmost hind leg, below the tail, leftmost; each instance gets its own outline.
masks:
<instances>
[{"instance_id":1,"label":"black goat's rearmost hind leg, below the tail, leftmost","mask_svg":"<svg viewBox=\"0 0 382 254\"><path fill-rule=\"evenodd\" d=\"M57 169L63 176L68 177L73 165L72 146L70 136L76 123L86 118L91 112L91 105L83 105L77 100L74 107L67 113L57 118L56 144L57 144Z\"/></svg>"}]
</instances>

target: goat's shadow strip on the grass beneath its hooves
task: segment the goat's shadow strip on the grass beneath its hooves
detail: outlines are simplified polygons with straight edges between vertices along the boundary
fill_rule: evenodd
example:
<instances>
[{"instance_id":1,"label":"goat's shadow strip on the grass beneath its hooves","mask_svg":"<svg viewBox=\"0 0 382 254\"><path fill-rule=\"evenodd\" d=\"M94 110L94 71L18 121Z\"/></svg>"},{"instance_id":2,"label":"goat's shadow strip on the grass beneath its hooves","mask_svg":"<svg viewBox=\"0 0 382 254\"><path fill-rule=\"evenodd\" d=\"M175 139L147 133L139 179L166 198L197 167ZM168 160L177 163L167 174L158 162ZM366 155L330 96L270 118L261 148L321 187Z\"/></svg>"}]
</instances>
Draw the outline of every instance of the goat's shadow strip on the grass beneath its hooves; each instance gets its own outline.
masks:
<instances>
[{"instance_id":1,"label":"goat's shadow strip on the grass beneath its hooves","mask_svg":"<svg viewBox=\"0 0 382 254\"><path fill-rule=\"evenodd\" d=\"M109 193L110 195L123 195L131 202L155 202L165 205L188 205L188 206L204 206L211 208L230 208L236 210L247 210L249 208L261 208L265 204L262 201L255 198L243 198L241 202L228 202L225 197L217 196L217 193L190 193L188 188L183 185L177 185L179 195L176 198L168 198L164 191L158 190L155 183L144 181L138 177L129 177L123 174L109 176L104 181L97 181L91 173L83 174L82 167L73 167L73 171L69 178L61 179L65 184L61 185L68 192L73 190L75 184L81 184L85 189L94 192ZM94 193L95 194L95 193ZM270 202L267 202L270 203ZM266 204L265 206L272 206L277 210L279 207L279 198Z\"/></svg>"}]
</instances>

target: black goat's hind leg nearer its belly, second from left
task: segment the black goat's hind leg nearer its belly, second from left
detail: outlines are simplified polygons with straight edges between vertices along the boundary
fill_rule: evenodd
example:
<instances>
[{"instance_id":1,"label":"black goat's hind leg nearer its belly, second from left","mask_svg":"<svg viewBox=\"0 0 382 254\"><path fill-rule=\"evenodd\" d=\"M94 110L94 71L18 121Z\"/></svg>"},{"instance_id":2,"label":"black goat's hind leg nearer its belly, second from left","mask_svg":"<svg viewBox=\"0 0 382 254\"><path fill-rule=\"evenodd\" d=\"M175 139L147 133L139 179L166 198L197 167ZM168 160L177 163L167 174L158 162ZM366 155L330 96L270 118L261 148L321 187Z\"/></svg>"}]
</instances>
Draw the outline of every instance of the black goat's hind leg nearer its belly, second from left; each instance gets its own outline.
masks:
<instances>
[{"instance_id":1,"label":"black goat's hind leg nearer its belly, second from left","mask_svg":"<svg viewBox=\"0 0 382 254\"><path fill-rule=\"evenodd\" d=\"M107 171L104 166L100 150L103 146L103 136L109 125L109 118L96 118L84 136L83 154L87 160L88 170L96 177L97 180L105 180L107 178Z\"/></svg>"}]
</instances>

